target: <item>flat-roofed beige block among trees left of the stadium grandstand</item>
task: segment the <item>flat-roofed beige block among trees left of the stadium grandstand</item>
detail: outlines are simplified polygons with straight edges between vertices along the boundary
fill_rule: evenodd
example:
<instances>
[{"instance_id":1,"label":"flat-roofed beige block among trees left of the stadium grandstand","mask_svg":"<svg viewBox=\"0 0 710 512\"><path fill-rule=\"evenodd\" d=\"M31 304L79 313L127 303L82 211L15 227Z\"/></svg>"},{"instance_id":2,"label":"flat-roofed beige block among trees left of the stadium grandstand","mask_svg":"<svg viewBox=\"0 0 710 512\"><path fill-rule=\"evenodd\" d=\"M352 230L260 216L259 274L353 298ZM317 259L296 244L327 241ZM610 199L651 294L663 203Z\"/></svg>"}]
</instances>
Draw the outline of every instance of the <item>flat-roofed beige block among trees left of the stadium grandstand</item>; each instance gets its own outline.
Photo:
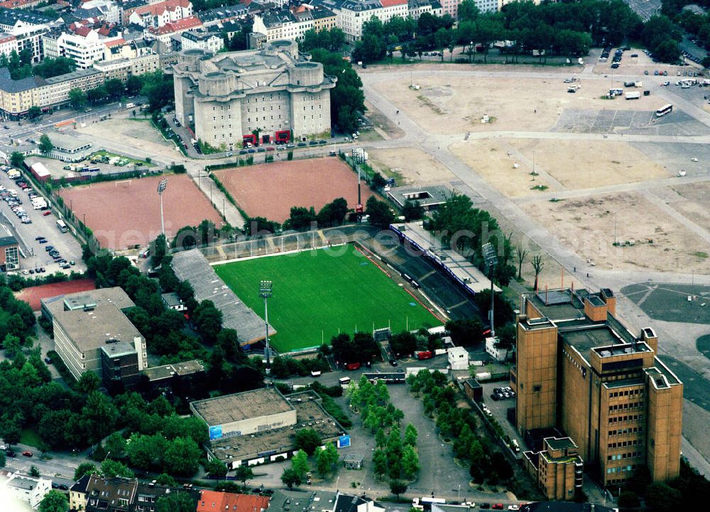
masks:
<instances>
[{"instance_id":1,"label":"flat-roofed beige block among trees left of the stadium grandstand","mask_svg":"<svg viewBox=\"0 0 710 512\"><path fill-rule=\"evenodd\" d=\"M77 380L82 373L89 371L103 377L106 357L111 360L114 352L108 350L107 354L107 350L104 350L102 355L102 349L114 343L120 343L119 355L129 350L135 352L138 372L148 366L146 340L114 304L87 305L82 309L56 313L53 329L55 350ZM132 360L121 361L131 367L134 365ZM127 372L130 370L126 369ZM115 372L112 371L110 377L115 377Z\"/></svg>"}]
</instances>

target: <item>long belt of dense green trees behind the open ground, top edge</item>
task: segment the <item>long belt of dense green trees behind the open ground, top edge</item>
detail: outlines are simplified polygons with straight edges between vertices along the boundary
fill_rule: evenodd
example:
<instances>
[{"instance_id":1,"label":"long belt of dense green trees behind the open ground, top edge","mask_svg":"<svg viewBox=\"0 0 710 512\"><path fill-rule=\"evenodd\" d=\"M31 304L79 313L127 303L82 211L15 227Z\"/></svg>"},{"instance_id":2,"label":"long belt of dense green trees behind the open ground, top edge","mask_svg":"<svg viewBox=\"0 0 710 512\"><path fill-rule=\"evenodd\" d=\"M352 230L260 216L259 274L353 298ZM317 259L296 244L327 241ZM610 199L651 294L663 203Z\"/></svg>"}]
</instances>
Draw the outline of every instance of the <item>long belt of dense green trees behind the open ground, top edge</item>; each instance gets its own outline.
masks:
<instances>
[{"instance_id":1,"label":"long belt of dense green trees behind the open ground, top edge","mask_svg":"<svg viewBox=\"0 0 710 512\"><path fill-rule=\"evenodd\" d=\"M449 15L424 13L420 18L393 17L386 23L371 18L363 26L353 59L377 62L393 56L400 48L403 57L415 57L438 50L444 59L449 50L464 49L471 60L476 51L487 59L493 43L503 42L501 53L516 60L533 50L547 55L579 57L591 45L619 45L627 39L643 40L659 60L675 62L679 51L674 32L652 18L643 23L622 0L581 0L576 2L511 2L496 13L480 13L473 0L459 4L458 23ZM665 41L665 43L664 43ZM664 43L664 44L661 44Z\"/></svg>"}]
</instances>

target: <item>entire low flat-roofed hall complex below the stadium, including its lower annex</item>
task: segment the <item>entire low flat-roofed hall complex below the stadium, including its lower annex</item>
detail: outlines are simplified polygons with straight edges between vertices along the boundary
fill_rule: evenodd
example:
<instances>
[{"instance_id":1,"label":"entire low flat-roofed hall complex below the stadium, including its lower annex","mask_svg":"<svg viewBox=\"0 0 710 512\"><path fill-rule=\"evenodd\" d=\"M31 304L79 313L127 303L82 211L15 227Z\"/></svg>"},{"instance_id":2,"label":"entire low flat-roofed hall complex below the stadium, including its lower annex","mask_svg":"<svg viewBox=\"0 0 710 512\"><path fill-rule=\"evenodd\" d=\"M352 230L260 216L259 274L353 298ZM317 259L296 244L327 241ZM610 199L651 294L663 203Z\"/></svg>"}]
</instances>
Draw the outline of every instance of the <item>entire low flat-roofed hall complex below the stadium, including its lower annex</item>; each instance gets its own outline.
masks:
<instances>
[{"instance_id":1,"label":"entire low flat-roofed hall complex below the stadium, including its lower annex","mask_svg":"<svg viewBox=\"0 0 710 512\"><path fill-rule=\"evenodd\" d=\"M288 459L302 428L315 430L323 444L349 446L349 435L320 400L312 391L284 396L267 388L194 401L190 410L209 428L209 460L234 469Z\"/></svg>"}]
</instances>

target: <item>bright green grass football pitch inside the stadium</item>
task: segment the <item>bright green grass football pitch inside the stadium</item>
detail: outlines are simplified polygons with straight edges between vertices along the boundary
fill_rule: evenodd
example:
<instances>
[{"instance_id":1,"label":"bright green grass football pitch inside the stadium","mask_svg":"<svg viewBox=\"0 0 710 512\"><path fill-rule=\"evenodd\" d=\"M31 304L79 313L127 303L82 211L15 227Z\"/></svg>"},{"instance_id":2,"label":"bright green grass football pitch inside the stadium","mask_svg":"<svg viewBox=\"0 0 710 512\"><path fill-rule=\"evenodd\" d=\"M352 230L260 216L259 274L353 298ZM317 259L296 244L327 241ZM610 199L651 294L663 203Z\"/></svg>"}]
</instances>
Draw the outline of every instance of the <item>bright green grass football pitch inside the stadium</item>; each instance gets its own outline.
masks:
<instances>
[{"instance_id":1,"label":"bright green grass football pitch inside the stadium","mask_svg":"<svg viewBox=\"0 0 710 512\"><path fill-rule=\"evenodd\" d=\"M329 343L339 332L390 326L397 333L441 325L351 245L231 262L214 270L261 318L259 282L273 282L268 320L277 330L271 343L279 352Z\"/></svg>"}]
</instances>

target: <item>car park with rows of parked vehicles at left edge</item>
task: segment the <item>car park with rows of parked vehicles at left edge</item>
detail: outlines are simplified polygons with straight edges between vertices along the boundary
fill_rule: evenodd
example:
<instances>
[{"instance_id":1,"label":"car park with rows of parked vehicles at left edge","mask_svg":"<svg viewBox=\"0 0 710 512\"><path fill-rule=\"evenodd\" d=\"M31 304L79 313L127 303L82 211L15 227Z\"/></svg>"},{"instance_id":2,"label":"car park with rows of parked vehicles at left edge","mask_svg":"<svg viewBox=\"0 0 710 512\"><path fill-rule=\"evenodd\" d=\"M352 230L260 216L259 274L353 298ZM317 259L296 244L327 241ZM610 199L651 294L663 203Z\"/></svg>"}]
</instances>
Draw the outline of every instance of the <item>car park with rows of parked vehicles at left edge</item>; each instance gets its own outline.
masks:
<instances>
[{"instance_id":1,"label":"car park with rows of parked vehicles at left edge","mask_svg":"<svg viewBox=\"0 0 710 512\"><path fill-rule=\"evenodd\" d=\"M0 211L5 218L1 218L3 223L11 224L11 230L19 239L21 252L24 257L20 260L20 268L27 271L27 274L35 269L43 268L47 274L54 272L83 272L84 266L81 262L82 250L80 244L72 237L70 233L61 233L57 227L57 219L51 213L50 209L35 210L33 209L28 193L18 187L17 182L10 179L6 172L0 172L0 186L5 187L6 191L16 191L17 199L21 201L19 205L24 209L24 213L30 223L22 223L20 218L12 211L8 201L0 201ZM50 214L45 215L46 212ZM40 243L39 238L44 237L47 240L45 243ZM60 268L60 263L55 262L53 257L45 248L51 245L58 251L58 254L63 260L75 262L76 265L70 265L67 269Z\"/></svg>"}]
</instances>

